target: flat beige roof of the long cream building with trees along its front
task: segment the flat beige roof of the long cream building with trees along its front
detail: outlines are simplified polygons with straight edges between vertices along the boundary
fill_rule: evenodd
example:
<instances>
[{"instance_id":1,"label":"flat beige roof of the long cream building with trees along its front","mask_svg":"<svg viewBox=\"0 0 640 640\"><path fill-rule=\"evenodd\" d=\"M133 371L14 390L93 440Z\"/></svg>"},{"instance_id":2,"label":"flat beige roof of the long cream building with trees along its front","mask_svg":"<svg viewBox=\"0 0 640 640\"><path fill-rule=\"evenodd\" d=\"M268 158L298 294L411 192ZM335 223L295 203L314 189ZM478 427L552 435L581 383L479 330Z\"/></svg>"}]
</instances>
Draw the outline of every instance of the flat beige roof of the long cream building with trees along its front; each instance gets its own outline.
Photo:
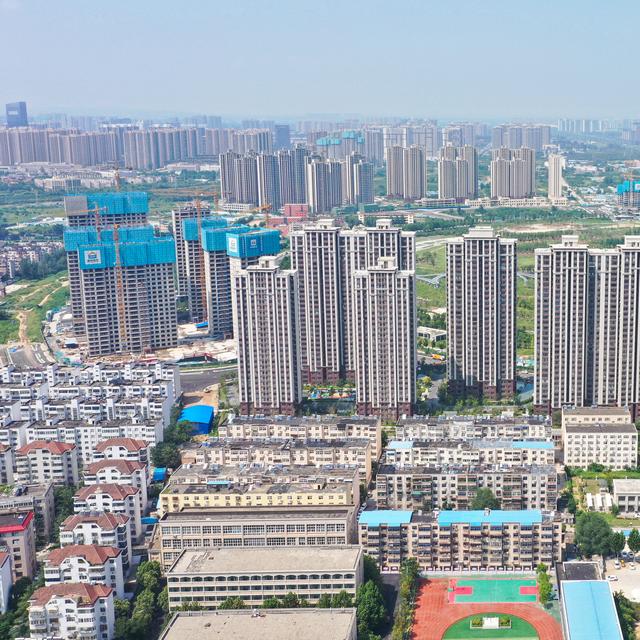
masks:
<instances>
[{"instance_id":1,"label":"flat beige roof of the long cream building with trees along its front","mask_svg":"<svg viewBox=\"0 0 640 640\"><path fill-rule=\"evenodd\" d=\"M362 561L359 545L327 547L217 547L184 550L169 575L236 574L287 571L356 571Z\"/></svg>"}]
</instances>

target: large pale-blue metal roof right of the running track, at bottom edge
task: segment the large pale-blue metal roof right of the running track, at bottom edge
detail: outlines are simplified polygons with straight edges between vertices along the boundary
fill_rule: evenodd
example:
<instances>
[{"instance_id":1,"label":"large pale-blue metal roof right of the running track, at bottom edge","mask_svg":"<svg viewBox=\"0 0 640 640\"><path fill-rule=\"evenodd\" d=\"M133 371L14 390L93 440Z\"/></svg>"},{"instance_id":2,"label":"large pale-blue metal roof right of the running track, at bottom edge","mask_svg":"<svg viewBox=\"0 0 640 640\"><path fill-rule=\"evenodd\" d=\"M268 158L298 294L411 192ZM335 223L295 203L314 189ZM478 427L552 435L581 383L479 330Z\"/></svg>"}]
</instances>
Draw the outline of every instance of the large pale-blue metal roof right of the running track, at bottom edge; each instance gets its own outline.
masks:
<instances>
[{"instance_id":1,"label":"large pale-blue metal roof right of the running track, at bottom edge","mask_svg":"<svg viewBox=\"0 0 640 640\"><path fill-rule=\"evenodd\" d=\"M605 580L562 583L567 640L622 640L616 605Z\"/></svg>"}]
</instances>

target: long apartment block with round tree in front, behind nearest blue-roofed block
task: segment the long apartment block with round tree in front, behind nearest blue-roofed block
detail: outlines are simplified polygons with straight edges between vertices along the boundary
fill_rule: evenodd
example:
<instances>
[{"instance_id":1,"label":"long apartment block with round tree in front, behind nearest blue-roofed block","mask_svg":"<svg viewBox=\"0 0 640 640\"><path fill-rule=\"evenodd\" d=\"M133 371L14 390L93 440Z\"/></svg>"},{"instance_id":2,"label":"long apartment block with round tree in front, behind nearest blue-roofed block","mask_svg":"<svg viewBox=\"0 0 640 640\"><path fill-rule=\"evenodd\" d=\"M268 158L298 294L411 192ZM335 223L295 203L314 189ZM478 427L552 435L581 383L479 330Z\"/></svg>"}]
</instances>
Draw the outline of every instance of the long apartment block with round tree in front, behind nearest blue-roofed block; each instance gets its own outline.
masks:
<instances>
[{"instance_id":1,"label":"long apartment block with round tree in front, behind nearest blue-roofed block","mask_svg":"<svg viewBox=\"0 0 640 640\"><path fill-rule=\"evenodd\" d=\"M380 465L376 502L384 509L471 509L478 489L490 489L502 509L554 510L558 479L553 465Z\"/></svg>"}]
</instances>

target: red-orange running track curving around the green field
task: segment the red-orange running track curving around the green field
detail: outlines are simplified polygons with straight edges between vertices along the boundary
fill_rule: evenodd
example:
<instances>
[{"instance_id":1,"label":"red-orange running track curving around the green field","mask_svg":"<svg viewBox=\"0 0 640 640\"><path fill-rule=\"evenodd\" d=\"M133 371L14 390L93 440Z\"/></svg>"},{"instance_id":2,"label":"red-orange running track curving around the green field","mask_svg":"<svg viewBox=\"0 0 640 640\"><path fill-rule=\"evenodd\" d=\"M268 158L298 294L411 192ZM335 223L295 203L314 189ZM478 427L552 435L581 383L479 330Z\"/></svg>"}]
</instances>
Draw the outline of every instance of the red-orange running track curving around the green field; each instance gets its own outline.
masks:
<instances>
[{"instance_id":1,"label":"red-orange running track curving around the green field","mask_svg":"<svg viewBox=\"0 0 640 640\"><path fill-rule=\"evenodd\" d=\"M461 618L492 611L513 615L532 624L540 640L562 640L560 624L536 604L449 604L448 579L422 583L416 603L413 640L442 640L444 632Z\"/></svg>"}]
</instances>

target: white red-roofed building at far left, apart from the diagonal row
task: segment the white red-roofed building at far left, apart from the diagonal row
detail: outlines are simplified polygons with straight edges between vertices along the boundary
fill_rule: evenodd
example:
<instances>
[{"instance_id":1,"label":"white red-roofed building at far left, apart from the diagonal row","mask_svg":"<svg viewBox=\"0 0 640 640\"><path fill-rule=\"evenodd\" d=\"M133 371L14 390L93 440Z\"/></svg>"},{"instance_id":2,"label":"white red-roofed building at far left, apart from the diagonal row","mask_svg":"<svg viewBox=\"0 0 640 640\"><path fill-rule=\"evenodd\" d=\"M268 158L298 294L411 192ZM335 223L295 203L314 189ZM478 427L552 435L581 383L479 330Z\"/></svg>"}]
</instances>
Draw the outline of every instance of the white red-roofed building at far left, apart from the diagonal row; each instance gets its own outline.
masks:
<instances>
[{"instance_id":1,"label":"white red-roofed building at far left, apart from the diagonal row","mask_svg":"<svg viewBox=\"0 0 640 640\"><path fill-rule=\"evenodd\" d=\"M77 485L78 449L75 444L34 440L15 452L15 479L22 484Z\"/></svg>"}]
</instances>

